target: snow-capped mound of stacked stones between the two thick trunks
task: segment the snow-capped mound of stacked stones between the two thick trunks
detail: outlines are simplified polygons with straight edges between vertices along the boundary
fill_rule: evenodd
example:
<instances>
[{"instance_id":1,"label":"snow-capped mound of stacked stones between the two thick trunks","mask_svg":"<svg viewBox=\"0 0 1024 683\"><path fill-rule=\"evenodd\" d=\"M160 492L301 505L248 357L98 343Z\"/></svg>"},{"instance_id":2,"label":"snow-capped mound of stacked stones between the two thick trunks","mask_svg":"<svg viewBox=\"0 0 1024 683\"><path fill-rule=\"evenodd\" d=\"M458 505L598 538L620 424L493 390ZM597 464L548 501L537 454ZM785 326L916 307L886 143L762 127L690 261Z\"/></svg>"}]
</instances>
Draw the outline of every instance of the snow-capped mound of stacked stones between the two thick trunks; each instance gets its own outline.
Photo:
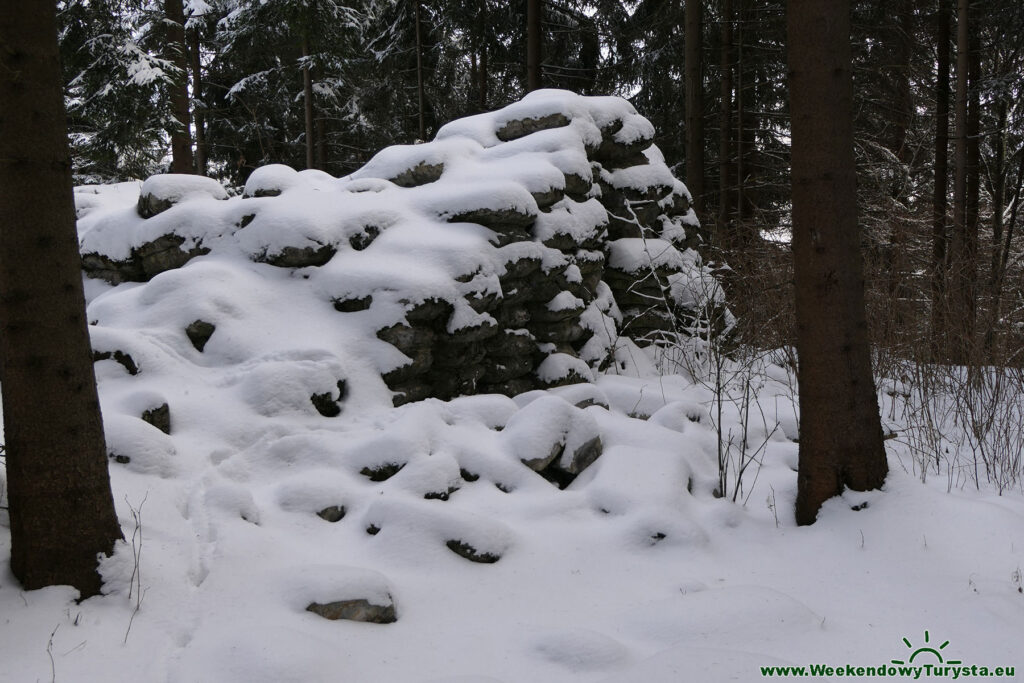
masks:
<instances>
[{"instance_id":1,"label":"snow-capped mound of stacked stones between the two thick trunks","mask_svg":"<svg viewBox=\"0 0 1024 683\"><path fill-rule=\"evenodd\" d=\"M267 414L336 414L357 372L395 404L592 381L633 342L728 324L653 132L623 99L543 90L344 178L267 166L227 200L156 176L113 208L80 193L86 272L145 283L97 297L95 341L141 362L127 329L157 325L196 367L247 368Z\"/></svg>"}]
</instances>

